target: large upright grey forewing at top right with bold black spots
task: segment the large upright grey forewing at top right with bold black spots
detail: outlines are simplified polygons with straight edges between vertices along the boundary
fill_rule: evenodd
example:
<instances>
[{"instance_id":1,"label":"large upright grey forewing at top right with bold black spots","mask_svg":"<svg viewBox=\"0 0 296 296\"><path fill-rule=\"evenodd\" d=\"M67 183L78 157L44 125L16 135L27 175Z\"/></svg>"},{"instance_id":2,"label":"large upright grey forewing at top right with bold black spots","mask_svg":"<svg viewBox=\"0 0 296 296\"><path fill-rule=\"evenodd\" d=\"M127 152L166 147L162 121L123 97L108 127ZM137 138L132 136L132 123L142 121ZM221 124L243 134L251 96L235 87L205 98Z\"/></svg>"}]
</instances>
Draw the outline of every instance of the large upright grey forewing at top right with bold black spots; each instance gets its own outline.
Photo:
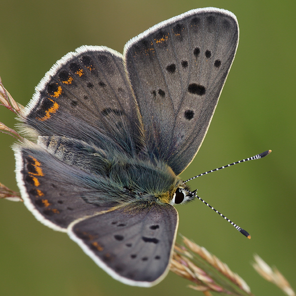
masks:
<instances>
[{"instance_id":1,"label":"large upright grey forewing at top right with bold black spots","mask_svg":"<svg viewBox=\"0 0 296 296\"><path fill-rule=\"evenodd\" d=\"M206 135L238 35L231 12L202 8L164 21L125 46L148 151L177 175Z\"/></svg>"}]
</instances>

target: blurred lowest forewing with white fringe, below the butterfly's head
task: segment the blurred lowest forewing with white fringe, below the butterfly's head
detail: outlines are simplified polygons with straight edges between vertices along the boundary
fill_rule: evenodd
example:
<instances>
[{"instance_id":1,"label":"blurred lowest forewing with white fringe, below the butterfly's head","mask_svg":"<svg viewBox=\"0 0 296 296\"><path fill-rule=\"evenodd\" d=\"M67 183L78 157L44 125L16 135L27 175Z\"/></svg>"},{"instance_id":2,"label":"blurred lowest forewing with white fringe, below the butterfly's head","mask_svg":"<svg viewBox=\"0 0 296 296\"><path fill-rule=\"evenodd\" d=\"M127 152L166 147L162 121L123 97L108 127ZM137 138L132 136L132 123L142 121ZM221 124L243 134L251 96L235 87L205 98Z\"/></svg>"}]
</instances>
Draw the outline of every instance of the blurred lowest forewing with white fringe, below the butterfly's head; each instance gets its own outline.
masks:
<instances>
[{"instance_id":1,"label":"blurred lowest forewing with white fringe, below the butterfly's head","mask_svg":"<svg viewBox=\"0 0 296 296\"><path fill-rule=\"evenodd\" d=\"M150 287L169 270L177 227L178 213L169 204L130 205L73 222L69 235L113 278Z\"/></svg>"}]
</instances>

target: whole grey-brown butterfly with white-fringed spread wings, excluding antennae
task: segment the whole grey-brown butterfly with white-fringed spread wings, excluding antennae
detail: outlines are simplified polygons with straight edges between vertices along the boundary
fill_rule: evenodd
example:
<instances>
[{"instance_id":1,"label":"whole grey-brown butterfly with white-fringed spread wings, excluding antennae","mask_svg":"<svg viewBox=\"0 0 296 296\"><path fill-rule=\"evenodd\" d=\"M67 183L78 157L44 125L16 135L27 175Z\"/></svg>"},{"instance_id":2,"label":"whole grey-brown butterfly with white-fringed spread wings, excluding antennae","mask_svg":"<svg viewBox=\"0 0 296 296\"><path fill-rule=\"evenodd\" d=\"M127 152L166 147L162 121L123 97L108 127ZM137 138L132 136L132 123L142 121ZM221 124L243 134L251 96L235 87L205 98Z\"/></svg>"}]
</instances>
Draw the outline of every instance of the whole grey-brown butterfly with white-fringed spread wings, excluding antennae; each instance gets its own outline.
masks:
<instances>
[{"instance_id":1,"label":"whole grey-brown butterfly with white-fringed spread wings, excluding antennae","mask_svg":"<svg viewBox=\"0 0 296 296\"><path fill-rule=\"evenodd\" d=\"M21 111L15 144L27 208L67 232L113 278L150 287L168 273L179 177L207 133L238 45L236 17L190 10L128 41L68 53ZM33 140L32 140L33 139Z\"/></svg>"}]
</instances>

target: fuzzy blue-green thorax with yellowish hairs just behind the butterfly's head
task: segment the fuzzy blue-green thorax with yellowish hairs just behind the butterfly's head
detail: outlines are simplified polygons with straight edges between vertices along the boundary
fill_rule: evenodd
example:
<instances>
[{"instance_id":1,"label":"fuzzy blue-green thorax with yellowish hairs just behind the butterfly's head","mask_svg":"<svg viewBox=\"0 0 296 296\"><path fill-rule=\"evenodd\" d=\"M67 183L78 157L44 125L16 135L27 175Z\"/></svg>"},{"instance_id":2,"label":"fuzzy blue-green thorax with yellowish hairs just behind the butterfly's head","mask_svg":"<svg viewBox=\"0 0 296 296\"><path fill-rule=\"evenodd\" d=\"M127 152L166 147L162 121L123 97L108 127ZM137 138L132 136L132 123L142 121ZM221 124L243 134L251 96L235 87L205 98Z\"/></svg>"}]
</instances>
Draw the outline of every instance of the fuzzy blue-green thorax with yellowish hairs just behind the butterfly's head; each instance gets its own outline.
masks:
<instances>
[{"instance_id":1,"label":"fuzzy blue-green thorax with yellowish hairs just behind the butterfly's head","mask_svg":"<svg viewBox=\"0 0 296 296\"><path fill-rule=\"evenodd\" d=\"M170 203L176 190L184 187L184 182L165 162L124 159L122 156L112 159L107 181L116 188L117 196L120 191L119 203Z\"/></svg>"}]
</instances>

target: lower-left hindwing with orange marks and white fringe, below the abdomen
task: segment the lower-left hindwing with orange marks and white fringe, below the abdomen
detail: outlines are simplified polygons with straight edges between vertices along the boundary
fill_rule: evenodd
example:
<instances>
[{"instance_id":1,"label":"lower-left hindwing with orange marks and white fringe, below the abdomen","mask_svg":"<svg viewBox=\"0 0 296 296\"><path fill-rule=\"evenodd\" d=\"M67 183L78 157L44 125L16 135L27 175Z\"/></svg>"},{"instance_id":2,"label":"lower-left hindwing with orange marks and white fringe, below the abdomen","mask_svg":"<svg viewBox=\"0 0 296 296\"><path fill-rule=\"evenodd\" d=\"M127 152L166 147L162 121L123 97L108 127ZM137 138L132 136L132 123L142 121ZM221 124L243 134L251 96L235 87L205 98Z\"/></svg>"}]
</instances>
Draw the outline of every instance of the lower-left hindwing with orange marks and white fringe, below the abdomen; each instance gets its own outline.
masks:
<instances>
[{"instance_id":1,"label":"lower-left hindwing with orange marks and white fringe, below the abdomen","mask_svg":"<svg viewBox=\"0 0 296 296\"><path fill-rule=\"evenodd\" d=\"M31 142L15 146L14 151L22 198L43 224L66 232L74 220L113 206L111 201L100 199L100 178L93 174L93 166L82 170L81 163L73 166ZM89 160L87 156L84 159ZM90 202L94 198L96 202Z\"/></svg>"}]
</instances>

